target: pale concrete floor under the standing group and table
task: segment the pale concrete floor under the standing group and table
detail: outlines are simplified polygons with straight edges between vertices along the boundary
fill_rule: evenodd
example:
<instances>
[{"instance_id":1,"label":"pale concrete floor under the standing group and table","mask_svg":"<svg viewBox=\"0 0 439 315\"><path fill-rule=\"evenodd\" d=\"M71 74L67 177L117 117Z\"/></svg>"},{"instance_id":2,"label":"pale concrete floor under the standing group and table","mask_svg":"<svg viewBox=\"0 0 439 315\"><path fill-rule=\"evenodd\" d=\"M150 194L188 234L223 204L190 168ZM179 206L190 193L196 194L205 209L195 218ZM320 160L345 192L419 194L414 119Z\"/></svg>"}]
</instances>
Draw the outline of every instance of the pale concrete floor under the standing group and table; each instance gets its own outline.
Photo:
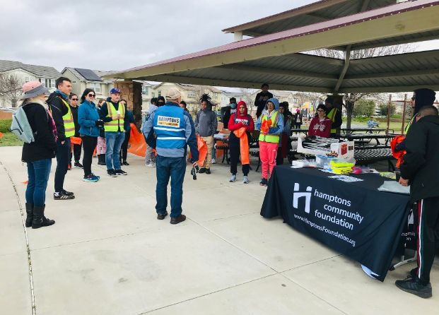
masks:
<instances>
[{"instance_id":1,"label":"pale concrete floor under the standing group and table","mask_svg":"<svg viewBox=\"0 0 439 315\"><path fill-rule=\"evenodd\" d=\"M54 201L53 161L46 215L57 221L25 229L26 167L21 148L0 148L0 313L32 314L438 314L439 264L433 298L402 292L394 280L414 264L388 273L384 283L351 261L282 223L259 215L265 189L229 183L228 166L192 180L187 169L187 220L156 220L155 169L129 156L127 177L82 182L67 173L73 201ZM15 187L15 189L14 189ZM25 232L27 232L27 235ZM27 241L30 256L27 252ZM30 286L29 264L32 266Z\"/></svg>"}]
</instances>

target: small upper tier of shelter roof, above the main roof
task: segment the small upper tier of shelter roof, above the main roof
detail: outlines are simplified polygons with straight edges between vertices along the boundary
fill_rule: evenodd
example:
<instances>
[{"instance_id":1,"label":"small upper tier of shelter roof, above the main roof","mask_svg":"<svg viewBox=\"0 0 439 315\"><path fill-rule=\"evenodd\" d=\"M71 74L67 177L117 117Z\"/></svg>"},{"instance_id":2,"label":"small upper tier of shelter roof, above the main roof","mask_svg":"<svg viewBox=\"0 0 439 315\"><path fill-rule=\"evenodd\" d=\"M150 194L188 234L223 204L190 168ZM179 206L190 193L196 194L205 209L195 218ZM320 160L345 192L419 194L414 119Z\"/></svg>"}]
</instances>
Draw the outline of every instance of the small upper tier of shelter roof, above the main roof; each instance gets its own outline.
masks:
<instances>
[{"instance_id":1,"label":"small upper tier of shelter roof, above the main roof","mask_svg":"<svg viewBox=\"0 0 439 315\"><path fill-rule=\"evenodd\" d=\"M226 28L223 32L242 32L243 35L261 36L300 28L334 18L351 16L363 11L396 4L396 0L322 0L307 6L252 20L241 25Z\"/></svg>"}]
</instances>

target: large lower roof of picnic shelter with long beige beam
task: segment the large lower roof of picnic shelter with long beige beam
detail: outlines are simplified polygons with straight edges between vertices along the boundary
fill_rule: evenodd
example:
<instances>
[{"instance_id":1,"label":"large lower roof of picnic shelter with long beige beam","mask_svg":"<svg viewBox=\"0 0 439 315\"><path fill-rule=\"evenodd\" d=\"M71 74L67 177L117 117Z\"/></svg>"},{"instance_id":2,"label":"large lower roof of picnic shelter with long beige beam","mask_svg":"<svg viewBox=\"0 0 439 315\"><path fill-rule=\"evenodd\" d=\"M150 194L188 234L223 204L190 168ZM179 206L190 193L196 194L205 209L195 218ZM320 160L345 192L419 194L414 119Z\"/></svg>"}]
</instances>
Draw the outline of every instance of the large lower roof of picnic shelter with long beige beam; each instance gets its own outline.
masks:
<instances>
[{"instance_id":1,"label":"large lower roof of picnic shelter with long beige beam","mask_svg":"<svg viewBox=\"0 0 439 315\"><path fill-rule=\"evenodd\" d=\"M387 46L439 38L439 1L394 4L293 30L139 66L111 76L150 81L320 93L439 89L438 52L416 52L345 62L300 54L324 47ZM368 30L364 32L364 30Z\"/></svg>"}]
</instances>

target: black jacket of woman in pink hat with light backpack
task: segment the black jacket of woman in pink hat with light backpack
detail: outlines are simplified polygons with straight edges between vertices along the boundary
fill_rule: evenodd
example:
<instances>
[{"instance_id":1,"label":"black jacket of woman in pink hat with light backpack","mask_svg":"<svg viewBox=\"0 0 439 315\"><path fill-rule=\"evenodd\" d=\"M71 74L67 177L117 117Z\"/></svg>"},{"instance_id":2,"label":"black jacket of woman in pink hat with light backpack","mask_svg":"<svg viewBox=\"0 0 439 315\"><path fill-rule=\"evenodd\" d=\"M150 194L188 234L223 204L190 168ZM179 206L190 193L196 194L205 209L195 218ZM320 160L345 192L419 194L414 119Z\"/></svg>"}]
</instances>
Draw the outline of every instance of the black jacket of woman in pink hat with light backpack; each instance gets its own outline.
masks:
<instances>
[{"instance_id":1,"label":"black jacket of woman in pink hat with light backpack","mask_svg":"<svg viewBox=\"0 0 439 315\"><path fill-rule=\"evenodd\" d=\"M36 103L23 105L23 109L34 133L35 141L23 144L21 160L23 162L34 162L53 158L57 150L57 143L52 130L52 120L49 118L46 109Z\"/></svg>"}]
</instances>

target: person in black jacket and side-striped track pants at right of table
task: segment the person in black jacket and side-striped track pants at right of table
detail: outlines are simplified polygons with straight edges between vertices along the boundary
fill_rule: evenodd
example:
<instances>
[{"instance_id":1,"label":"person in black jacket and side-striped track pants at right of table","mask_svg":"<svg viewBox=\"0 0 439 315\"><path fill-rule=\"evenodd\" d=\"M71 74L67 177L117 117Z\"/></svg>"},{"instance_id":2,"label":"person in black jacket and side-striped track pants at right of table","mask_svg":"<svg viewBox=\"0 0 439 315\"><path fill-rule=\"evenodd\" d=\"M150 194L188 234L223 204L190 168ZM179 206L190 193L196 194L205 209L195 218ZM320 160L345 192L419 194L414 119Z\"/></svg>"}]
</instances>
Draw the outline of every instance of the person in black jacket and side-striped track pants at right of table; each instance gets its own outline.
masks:
<instances>
[{"instance_id":1,"label":"person in black jacket and side-striped track pants at right of table","mask_svg":"<svg viewBox=\"0 0 439 315\"><path fill-rule=\"evenodd\" d=\"M430 271L439 246L439 116L433 106L421 107L406 135L406 151L399 184L410 184L410 198L418 203L418 267L406 280L397 280L401 290L431 297Z\"/></svg>"}]
</instances>

